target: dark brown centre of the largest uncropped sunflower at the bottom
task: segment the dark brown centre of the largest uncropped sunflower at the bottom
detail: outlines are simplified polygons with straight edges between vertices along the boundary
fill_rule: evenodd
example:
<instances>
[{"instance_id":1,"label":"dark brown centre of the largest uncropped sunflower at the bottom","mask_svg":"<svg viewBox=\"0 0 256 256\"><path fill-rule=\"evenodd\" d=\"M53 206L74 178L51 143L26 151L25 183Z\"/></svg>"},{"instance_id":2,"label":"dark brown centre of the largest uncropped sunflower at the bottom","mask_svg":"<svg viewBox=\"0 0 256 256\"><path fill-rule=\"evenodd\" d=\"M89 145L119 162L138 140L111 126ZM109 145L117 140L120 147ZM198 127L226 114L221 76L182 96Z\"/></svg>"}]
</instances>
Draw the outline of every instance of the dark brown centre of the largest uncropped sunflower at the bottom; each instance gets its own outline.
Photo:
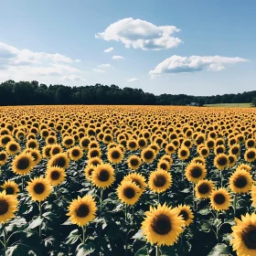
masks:
<instances>
[{"instance_id":1,"label":"dark brown centre of the largest uncropped sunflower at the bottom","mask_svg":"<svg viewBox=\"0 0 256 256\"><path fill-rule=\"evenodd\" d=\"M155 216L152 220L151 228L159 235L166 235L172 229L171 219L165 214Z\"/></svg>"}]
</instances>

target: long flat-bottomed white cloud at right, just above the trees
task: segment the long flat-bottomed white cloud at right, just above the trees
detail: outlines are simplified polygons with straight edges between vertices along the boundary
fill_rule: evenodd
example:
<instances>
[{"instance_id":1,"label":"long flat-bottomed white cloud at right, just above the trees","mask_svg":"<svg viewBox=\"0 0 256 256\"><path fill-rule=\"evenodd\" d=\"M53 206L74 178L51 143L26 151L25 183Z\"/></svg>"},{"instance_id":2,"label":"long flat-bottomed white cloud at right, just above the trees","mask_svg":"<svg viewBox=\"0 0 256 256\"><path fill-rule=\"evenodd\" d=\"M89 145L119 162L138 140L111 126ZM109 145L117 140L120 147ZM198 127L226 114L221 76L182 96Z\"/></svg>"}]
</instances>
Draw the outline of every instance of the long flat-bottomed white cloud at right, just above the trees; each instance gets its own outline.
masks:
<instances>
[{"instance_id":1,"label":"long flat-bottomed white cloud at right, just above the trees","mask_svg":"<svg viewBox=\"0 0 256 256\"><path fill-rule=\"evenodd\" d=\"M169 73L187 73L201 70L220 71L229 64L244 62L246 59L239 57L229 58L221 56L172 56L159 63L149 72L152 76Z\"/></svg>"}]
</instances>

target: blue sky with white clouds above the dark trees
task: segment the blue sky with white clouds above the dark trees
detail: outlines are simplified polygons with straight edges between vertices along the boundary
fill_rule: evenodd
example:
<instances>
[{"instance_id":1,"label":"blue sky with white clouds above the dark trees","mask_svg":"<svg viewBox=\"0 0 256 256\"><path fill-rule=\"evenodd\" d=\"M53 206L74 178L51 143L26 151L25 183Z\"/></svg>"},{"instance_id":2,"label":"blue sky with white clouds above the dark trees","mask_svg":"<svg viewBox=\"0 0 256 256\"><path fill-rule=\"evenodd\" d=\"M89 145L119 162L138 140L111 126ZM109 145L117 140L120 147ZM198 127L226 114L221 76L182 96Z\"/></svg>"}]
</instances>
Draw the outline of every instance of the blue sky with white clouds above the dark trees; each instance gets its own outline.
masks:
<instances>
[{"instance_id":1,"label":"blue sky with white clouds above the dark trees","mask_svg":"<svg viewBox=\"0 0 256 256\"><path fill-rule=\"evenodd\" d=\"M254 0L1 1L0 81L252 91L255 9Z\"/></svg>"}]
</instances>

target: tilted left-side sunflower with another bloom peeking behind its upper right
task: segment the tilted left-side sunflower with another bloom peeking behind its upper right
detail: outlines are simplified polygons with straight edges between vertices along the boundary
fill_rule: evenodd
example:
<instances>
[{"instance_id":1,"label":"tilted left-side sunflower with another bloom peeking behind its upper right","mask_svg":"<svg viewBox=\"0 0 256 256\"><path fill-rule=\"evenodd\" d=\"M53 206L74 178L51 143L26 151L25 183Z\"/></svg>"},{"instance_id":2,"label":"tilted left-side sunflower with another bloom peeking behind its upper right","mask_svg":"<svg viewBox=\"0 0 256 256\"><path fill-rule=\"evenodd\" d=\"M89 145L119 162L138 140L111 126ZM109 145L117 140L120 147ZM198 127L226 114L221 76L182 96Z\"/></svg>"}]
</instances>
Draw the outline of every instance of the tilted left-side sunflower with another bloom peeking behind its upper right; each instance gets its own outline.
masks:
<instances>
[{"instance_id":1,"label":"tilted left-side sunflower with another bloom peeking behind its upper right","mask_svg":"<svg viewBox=\"0 0 256 256\"><path fill-rule=\"evenodd\" d=\"M29 153L22 153L16 155L12 163L13 171L18 175L27 175L35 166L32 155Z\"/></svg>"}]
</instances>

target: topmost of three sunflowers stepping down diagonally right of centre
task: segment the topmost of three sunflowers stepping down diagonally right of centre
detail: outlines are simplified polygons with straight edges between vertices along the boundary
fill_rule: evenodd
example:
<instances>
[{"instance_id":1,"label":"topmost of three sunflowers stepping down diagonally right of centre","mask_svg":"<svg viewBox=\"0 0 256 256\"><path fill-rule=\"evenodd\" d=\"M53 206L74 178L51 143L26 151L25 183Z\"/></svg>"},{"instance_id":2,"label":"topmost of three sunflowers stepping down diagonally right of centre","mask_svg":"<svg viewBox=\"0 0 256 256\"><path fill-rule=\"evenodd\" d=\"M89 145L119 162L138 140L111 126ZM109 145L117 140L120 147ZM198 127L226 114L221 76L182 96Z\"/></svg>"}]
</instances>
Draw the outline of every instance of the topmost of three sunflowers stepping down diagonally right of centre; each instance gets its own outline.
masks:
<instances>
[{"instance_id":1,"label":"topmost of three sunflowers stepping down diagonally right of centre","mask_svg":"<svg viewBox=\"0 0 256 256\"><path fill-rule=\"evenodd\" d=\"M200 163L190 163L186 168L186 177L188 181L197 183L199 180L204 179L207 176L207 170L205 165Z\"/></svg>"}]
</instances>

